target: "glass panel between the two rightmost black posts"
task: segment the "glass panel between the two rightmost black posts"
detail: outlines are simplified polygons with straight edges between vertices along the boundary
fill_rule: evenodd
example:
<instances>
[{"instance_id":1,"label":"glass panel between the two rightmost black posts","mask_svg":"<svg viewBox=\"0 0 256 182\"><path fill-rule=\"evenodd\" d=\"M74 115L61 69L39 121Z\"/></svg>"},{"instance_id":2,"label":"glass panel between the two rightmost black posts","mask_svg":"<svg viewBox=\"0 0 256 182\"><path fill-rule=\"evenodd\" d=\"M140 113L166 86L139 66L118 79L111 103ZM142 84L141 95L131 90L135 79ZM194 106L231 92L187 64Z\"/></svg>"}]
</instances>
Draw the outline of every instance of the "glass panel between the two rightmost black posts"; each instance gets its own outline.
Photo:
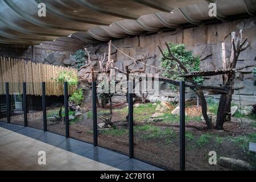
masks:
<instances>
[{"instance_id":1,"label":"glass panel between the two rightmost black posts","mask_svg":"<svg viewBox=\"0 0 256 182\"><path fill-rule=\"evenodd\" d=\"M163 82L159 88L159 93L148 94L145 103L134 104L134 156L155 166L179 170L179 111L171 113L179 97Z\"/></svg>"}]
</instances>

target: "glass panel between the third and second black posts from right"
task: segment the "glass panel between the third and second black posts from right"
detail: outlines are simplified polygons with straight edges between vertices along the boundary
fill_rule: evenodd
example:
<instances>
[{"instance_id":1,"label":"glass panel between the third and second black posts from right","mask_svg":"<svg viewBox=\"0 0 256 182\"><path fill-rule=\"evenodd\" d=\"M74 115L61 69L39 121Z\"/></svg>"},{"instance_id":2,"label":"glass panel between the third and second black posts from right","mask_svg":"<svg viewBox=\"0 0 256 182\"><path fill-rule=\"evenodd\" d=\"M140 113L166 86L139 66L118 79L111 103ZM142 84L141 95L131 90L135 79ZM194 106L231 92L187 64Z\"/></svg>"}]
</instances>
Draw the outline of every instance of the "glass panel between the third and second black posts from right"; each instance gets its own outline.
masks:
<instances>
[{"instance_id":1,"label":"glass panel between the third and second black posts from right","mask_svg":"<svg viewBox=\"0 0 256 182\"><path fill-rule=\"evenodd\" d=\"M112 114L108 94L98 94L100 107L97 108L98 144L123 154L129 154L129 138L126 94L114 94Z\"/></svg>"}]
</instances>

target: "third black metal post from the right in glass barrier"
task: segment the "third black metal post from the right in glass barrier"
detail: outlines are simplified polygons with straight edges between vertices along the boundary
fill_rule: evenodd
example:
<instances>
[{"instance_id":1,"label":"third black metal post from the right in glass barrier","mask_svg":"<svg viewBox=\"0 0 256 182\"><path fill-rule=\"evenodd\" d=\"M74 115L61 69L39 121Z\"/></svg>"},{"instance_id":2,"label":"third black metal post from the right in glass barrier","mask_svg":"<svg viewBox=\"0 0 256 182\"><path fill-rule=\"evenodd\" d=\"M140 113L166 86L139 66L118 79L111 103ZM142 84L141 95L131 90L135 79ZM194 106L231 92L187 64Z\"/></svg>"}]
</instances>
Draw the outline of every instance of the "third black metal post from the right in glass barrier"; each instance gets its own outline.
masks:
<instances>
[{"instance_id":1,"label":"third black metal post from the right in glass barrier","mask_svg":"<svg viewBox=\"0 0 256 182\"><path fill-rule=\"evenodd\" d=\"M93 145L98 145L98 129L97 129L97 105L96 105L96 82L92 82L92 109L93 109Z\"/></svg>"}]
</instances>

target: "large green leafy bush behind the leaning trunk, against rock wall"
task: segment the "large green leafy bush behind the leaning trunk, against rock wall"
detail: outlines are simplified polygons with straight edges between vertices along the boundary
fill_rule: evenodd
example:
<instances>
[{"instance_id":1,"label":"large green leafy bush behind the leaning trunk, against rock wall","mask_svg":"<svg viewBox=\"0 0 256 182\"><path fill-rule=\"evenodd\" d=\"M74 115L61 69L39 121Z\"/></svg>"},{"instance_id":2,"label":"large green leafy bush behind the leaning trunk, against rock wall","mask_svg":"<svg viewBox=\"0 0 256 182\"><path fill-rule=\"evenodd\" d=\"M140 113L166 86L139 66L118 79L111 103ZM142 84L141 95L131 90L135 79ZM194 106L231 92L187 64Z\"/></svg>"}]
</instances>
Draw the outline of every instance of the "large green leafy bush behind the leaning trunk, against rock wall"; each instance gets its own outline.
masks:
<instances>
[{"instance_id":1,"label":"large green leafy bush behind the leaning trunk, against rock wall","mask_svg":"<svg viewBox=\"0 0 256 182\"><path fill-rule=\"evenodd\" d=\"M171 48L172 54L177 57L181 61L181 63L184 64L184 66L188 69L189 72L193 71L200 71L200 58L199 56L193 56L192 51L187 51L185 49L184 44L174 44L174 43L168 43L168 45ZM166 57L170 57L168 55L168 49L165 49L163 51L164 55ZM176 61L167 60L164 59L162 56L160 57L160 67L164 69L170 69L173 71L179 71L180 68ZM181 73L184 73L181 71ZM184 80L184 78L179 77L177 74L170 73L168 71L164 71L163 76L167 78L171 78L173 80ZM195 82L198 84L203 83L204 78L203 77L195 77L193 78ZM169 85L172 90L177 90L177 86L170 84Z\"/></svg>"}]
</instances>

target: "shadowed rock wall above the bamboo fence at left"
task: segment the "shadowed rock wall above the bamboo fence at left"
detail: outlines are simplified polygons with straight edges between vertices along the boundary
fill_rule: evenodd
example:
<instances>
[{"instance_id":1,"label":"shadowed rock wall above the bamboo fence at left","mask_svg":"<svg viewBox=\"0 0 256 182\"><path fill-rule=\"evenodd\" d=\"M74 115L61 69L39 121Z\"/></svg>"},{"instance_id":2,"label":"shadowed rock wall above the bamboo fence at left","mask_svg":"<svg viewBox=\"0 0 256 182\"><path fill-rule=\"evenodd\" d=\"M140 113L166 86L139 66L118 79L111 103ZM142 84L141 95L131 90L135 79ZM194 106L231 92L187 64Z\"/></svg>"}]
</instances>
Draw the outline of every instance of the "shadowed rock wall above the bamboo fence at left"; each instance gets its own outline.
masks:
<instances>
[{"instance_id":1,"label":"shadowed rock wall above the bamboo fence at left","mask_svg":"<svg viewBox=\"0 0 256 182\"><path fill-rule=\"evenodd\" d=\"M76 68L73 55L83 47L84 42L64 37L34 46L0 44L0 56Z\"/></svg>"}]
</instances>

